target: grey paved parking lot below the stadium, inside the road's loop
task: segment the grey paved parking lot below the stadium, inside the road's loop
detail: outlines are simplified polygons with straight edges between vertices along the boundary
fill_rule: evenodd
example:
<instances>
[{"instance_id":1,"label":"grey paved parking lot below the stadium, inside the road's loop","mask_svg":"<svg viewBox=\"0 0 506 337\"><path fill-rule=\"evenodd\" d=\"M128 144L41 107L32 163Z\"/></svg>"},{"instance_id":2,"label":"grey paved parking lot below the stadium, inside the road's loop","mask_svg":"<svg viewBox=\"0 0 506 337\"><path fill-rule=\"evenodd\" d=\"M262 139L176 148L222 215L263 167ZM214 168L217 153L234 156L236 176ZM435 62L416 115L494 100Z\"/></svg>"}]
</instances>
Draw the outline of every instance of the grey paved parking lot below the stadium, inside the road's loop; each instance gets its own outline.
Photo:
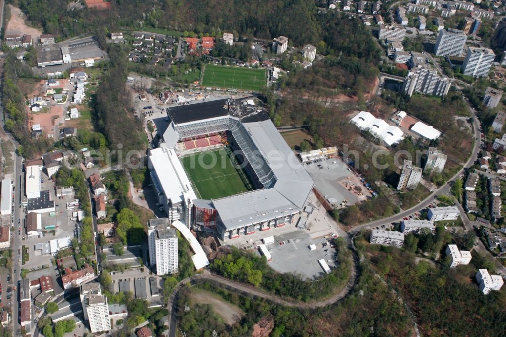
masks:
<instances>
[{"instance_id":1,"label":"grey paved parking lot below the stadium, inside the road's loop","mask_svg":"<svg viewBox=\"0 0 506 337\"><path fill-rule=\"evenodd\" d=\"M303 230L275 235L275 242L267 245L272 256L268 264L280 273L299 274L303 279L322 276L324 272L318 260L324 259L330 268L335 267L335 250L327 244L328 239L330 236L312 239ZM315 250L310 250L311 244L316 246Z\"/></svg>"}]
</instances>

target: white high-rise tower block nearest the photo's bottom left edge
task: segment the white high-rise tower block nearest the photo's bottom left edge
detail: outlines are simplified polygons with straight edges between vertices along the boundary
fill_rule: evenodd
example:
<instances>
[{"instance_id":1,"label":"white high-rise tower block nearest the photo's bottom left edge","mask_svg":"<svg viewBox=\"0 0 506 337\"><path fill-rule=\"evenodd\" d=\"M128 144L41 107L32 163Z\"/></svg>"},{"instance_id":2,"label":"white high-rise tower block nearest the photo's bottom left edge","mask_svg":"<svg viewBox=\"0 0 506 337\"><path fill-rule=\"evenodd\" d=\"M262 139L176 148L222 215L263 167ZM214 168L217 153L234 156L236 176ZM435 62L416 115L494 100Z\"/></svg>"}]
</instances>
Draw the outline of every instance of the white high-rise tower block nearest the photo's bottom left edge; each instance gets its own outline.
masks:
<instances>
[{"instance_id":1,"label":"white high-rise tower block nearest the photo's bottom left edge","mask_svg":"<svg viewBox=\"0 0 506 337\"><path fill-rule=\"evenodd\" d=\"M90 324L90 332L100 332L111 329L109 306L107 297L102 295L99 283L83 284L80 287L82 313L85 321Z\"/></svg>"}]
</instances>

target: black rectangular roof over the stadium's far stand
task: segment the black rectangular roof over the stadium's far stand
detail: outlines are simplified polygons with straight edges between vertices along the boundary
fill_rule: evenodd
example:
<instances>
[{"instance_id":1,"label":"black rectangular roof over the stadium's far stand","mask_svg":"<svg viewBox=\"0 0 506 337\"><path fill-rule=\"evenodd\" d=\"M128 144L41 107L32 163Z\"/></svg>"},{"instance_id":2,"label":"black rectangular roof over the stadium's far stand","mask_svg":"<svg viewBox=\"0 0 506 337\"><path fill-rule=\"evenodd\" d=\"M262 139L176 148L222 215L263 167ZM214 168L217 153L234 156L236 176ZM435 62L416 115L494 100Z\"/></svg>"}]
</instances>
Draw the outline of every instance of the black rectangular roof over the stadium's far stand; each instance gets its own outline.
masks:
<instances>
[{"instance_id":1,"label":"black rectangular roof over the stadium's far stand","mask_svg":"<svg viewBox=\"0 0 506 337\"><path fill-rule=\"evenodd\" d=\"M225 108L227 101L228 99L222 99L198 104L177 106L175 108L168 109L167 114L174 124L187 123L213 117L222 117L228 115L228 108Z\"/></svg>"}]
</instances>

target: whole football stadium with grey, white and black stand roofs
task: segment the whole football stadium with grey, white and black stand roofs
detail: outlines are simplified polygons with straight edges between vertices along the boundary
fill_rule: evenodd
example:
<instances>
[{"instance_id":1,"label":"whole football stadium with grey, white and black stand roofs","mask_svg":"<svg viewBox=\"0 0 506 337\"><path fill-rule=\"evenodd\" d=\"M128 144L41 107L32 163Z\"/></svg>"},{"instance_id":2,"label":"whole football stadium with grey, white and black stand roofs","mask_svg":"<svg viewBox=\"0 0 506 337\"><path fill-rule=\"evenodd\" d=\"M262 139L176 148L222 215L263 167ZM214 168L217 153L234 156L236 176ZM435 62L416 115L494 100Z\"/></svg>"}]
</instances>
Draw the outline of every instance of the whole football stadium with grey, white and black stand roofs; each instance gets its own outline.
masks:
<instances>
[{"instance_id":1,"label":"whole football stadium with grey, white and black stand roofs","mask_svg":"<svg viewBox=\"0 0 506 337\"><path fill-rule=\"evenodd\" d=\"M171 221L219 238L290 224L314 182L269 116L252 101L171 108L151 181Z\"/></svg>"}]
</instances>

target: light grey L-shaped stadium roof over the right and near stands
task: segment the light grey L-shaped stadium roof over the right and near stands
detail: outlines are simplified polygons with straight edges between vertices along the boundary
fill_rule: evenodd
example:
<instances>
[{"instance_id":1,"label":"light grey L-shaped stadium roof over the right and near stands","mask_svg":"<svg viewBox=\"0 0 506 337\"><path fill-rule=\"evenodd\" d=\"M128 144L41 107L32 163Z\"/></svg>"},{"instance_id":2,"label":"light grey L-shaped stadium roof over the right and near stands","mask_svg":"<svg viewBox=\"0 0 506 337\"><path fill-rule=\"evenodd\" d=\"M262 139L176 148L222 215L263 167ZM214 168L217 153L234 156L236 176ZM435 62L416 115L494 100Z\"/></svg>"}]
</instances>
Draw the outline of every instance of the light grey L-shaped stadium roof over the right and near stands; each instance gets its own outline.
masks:
<instances>
[{"instance_id":1,"label":"light grey L-shaped stadium roof over the right and near stands","mask_svg":"<svg viewBox=\"0 0 506 337\"><path fill-rule=\"evenodd\" d=\"M314 186L270 119L243 125L269 164L276 182L273 188L213 200L227 230L291 214L304 206Z\"/></svg>"}]
</instances>

